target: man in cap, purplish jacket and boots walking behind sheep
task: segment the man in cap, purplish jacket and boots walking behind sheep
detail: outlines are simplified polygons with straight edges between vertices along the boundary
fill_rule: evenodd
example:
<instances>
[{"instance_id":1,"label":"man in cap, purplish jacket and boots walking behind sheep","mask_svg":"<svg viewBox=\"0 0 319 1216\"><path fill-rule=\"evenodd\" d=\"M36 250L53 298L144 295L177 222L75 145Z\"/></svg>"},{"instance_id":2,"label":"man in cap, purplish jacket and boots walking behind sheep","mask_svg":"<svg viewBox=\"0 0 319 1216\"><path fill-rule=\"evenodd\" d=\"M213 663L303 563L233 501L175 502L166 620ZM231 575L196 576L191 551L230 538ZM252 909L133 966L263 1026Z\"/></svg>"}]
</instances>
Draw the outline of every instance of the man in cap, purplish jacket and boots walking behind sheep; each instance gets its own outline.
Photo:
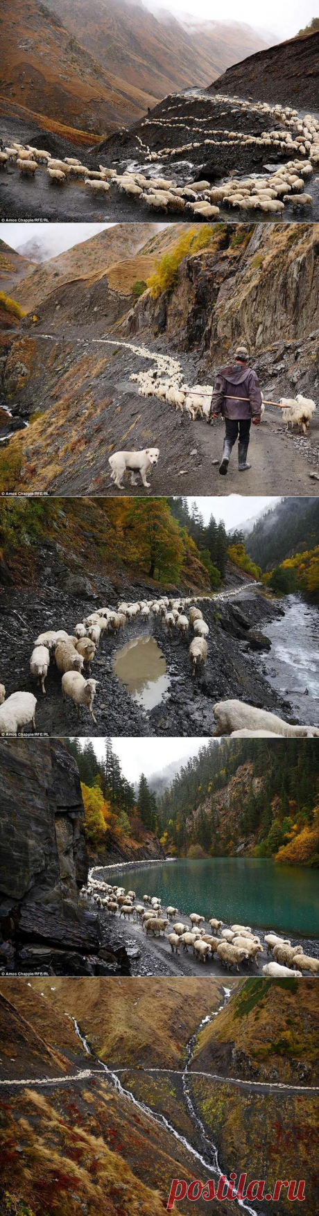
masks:
<instances>
[{"instance_id":1,"label":"man in cap, purplish jacket and boots walking behind sheep","mask_svg":"<svg viewBox=\"0 0 319 1216\"><path fill-rule=\"evenodd\" d=\"M239 472L246 473L251 465L247 461L251 422L258 427L262 411L262 394L258 377L248 367L246 347L237 347L234 362L222 367L217 373L211 401L211 415L219 413L225 420L225 439L223 458L219 465L222 477L226 475L231 449L239 437Z\"/></svg>"}]
</instances>

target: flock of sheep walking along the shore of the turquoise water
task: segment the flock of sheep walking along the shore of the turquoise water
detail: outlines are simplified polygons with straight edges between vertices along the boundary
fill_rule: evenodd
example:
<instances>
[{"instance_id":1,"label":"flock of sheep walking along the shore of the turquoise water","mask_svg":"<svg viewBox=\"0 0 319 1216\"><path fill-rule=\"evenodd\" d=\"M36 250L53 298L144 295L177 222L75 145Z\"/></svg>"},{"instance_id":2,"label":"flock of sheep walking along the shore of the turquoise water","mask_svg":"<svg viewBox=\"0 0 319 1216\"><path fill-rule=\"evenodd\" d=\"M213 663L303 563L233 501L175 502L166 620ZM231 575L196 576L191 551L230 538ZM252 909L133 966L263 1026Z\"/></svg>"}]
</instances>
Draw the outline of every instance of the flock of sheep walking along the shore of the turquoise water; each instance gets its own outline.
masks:
<instances>
[{"instance_id":1,"label":"flock of sheep walking along the shore of the turquoise water","mask_svg":"<svg viewBox=\"0 0 319 1216\"><path fill-rule=\"evenodd\" d=\"M128 921L136 921L141 924L146 936L153 938L163 934L169 928L170 922L178 916L178 908L162 907L161 899L156 895L144 895L142 903L136 902L135 891L125 893L124 886L110 885L101 879L89 874L88 885L82 888L82 899L93 900L97 907L106 910L110 916L124 917ZM183 914L183 913L181 913ZM268 953L273 953L273 961L263 966L263 974L272 976L302 976L302 972L310 975L319 974L319 959L304 955L302 946L292 946L287 939L279 938L275 933L264 934L264 945L261 938L252 931L250 925L233 924L229 929L222 928L223 921L217 917L207 919L198 912L191 912L188 918L190 924L175 921L172 931L167 934L172 953L179 955L180 948L192 953L202 963L213 959L216 955L223 967L233 967L239 972L246 963L259 966L258 955L263 955L267 946ZM209 925L211 931L205 925Z\"/></svg>"}]
</instances>

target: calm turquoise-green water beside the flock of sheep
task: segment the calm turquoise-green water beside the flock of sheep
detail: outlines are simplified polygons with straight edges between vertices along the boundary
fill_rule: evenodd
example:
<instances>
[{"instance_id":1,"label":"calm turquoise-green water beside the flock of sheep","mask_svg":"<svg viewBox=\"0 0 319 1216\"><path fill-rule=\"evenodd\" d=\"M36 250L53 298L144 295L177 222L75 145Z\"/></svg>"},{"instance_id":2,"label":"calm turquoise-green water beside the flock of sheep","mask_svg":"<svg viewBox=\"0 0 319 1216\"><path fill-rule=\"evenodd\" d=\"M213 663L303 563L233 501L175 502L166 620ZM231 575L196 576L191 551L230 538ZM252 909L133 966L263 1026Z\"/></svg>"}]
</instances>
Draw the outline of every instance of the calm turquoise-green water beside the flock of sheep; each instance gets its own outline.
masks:
<instances>
[{"instance_id":1,"label":"calm turquoise-green water beside the flock of sheep","mask_svg":"<svg viewBox=\"0 0 319 1216\"><path fill-rule=\"evenodd\" d=\"M138 899L160 895L163 906L180 913L216 916L224 924L250 924L286 934L319 936L318 871L303 866L276 866L272 858L178 857L156 866L114 871L111 882L131 885Z\"/></svg>"}]
</instances>

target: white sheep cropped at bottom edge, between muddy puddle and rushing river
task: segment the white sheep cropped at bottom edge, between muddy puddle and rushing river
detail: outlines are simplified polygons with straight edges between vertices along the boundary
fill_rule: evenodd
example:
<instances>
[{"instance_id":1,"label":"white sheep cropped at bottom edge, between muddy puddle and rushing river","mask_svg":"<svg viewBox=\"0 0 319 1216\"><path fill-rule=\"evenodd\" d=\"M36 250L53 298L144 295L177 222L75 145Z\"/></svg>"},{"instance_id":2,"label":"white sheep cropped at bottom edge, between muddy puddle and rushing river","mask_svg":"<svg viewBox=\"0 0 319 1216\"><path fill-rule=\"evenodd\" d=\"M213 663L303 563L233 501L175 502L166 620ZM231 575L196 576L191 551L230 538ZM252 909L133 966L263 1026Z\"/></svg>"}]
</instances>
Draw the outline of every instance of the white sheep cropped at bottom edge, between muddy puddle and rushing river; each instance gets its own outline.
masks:
<instances>
[{"instance_id":1,"label":"white sheep cropped at bottom edge, between muddy puddle and rushing river","mask_svg":"<svg viewBox=\"0 0 319 1216\"><path fill-rule=\"evenodd\" d=\"M213 713L217 724L213 732L214 737L231 734L235 731L247 727L250 734L251 731L259 728L268 730L274 734L284 734L286 738L295 736L300 736L301 738L319 738L319 728L315 726L291 726L290 722L284 722L276 714L257 709L244 700L219 700L213 706Z\"/></svg>"}]
</instances>

